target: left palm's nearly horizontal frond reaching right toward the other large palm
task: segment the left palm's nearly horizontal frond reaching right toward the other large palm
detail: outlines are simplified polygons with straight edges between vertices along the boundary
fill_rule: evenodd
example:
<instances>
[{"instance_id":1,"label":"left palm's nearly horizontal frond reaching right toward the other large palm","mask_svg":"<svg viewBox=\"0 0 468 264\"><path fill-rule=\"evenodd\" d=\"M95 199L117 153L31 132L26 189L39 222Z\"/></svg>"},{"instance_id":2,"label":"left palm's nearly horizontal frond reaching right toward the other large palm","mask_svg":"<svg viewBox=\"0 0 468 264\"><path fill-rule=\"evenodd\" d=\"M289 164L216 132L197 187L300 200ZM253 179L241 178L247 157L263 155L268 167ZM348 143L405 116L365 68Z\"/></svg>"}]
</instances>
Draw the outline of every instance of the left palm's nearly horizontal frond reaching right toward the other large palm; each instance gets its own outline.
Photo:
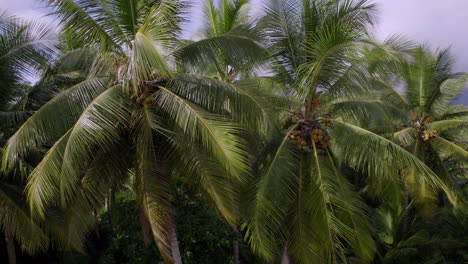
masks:
<instances>
[{"instance_id":1,"label":"left palm's nearly horizontal frond reaching right toward the other large palm","mask_svg":"<svg viewBox=\"0 0 468 264\"><path fill-rule=\"evenodd\" d=\"M275 96L276 84L266 78L249 78L227 83L213 78L178 74L168 88L184 99L213 113L227 113L242 125L268 134L276 126L284 99Z\"/></svg>"}]
</instances>

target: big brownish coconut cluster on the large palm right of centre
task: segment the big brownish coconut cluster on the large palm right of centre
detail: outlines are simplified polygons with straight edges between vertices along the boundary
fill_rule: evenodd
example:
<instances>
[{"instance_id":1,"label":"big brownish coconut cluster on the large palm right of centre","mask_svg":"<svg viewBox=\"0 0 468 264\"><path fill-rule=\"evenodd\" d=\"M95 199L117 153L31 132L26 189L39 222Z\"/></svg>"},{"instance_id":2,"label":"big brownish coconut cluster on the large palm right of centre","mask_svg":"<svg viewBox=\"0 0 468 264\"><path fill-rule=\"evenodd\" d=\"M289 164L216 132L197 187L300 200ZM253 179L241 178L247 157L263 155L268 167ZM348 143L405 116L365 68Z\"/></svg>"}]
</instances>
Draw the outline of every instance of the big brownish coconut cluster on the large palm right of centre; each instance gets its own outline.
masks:
<instances>
[{"instance_id":1,"label":"big brownish coconut cluster on the large palm right of centre","mask_svg":"<svg viewBox=\"0 0 468 264\"><path fill-rule=\"evenodd\" d=\"M328 149L330 147L330 136L328 133L314 125L298 125L290 134L289 139L292 140L299 149L309 151L315 147L318 149Z\"/></svg>"}]
</instances>

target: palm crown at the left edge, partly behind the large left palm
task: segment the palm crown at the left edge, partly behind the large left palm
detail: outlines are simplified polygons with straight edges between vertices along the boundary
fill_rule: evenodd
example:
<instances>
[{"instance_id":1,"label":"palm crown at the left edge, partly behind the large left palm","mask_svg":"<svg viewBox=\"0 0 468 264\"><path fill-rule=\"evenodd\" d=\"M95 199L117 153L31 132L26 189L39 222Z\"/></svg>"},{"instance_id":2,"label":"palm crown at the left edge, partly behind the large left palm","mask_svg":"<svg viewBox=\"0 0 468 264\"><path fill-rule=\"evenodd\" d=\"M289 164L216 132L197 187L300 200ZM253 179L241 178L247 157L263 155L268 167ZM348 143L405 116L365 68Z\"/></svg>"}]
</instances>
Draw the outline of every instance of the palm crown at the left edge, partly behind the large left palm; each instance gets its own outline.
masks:
<instances>
[{"instance_id":1,"label":"palm crown at the left edge, partly behind the large left palm","mask_svg":"<svg viewBox=\"0 0 468 264\"><path fill-rule=\"evenodd\" d=\"M60 71L60 59L55 65L48 65L48 60L57 56L57 41L51 27L37 21L26 21L6 13L0 13L0 140L10 137L14 131L47 99L59 90L57 87L30 86L37 70L50 66L50 77L63 74ZM54 72L51 74L51 72ZM64 77L64 76L62 76ZM54 78L52 78L54 79ZM62 78L61 82L64 81ZM3 154L3 149L0 148ZM14 240L29 253L43 251L49 245L65 245L79 250L73 241L67 243L61 228L62 216L48 217L45 221L36 221L31 217L23 194L25 180L35 165L41 151L36 150L29 160L18 163L17 169L0 173L0 226L6 236L9 260L15 261Z\"/></svg>"}]
</instances>

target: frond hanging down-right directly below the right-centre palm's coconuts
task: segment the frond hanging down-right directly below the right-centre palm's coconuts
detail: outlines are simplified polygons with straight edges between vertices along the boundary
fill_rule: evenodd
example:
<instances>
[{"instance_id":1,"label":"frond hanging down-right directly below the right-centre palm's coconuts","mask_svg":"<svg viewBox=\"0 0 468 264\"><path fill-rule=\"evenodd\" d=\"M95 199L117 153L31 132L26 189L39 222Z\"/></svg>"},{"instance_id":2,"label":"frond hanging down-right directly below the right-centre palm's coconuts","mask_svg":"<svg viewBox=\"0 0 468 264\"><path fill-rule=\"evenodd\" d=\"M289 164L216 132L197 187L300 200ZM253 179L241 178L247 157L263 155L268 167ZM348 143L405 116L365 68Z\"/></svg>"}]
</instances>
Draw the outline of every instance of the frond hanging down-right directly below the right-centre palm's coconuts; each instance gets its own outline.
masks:
<instances>
[{"instance_id":1,"label":"frond hanging down-right directly below the right-centre palm's coconuts","mask_svg":"<svg viewBox=\"0 0 468 264\"><path fill-rule=\"evenodd\" d=\"M310 228L318 240L312 242L315 252L322 261L337 263L345 258L346 246L350 246L362 261L371 260L375 245L365 204L339 173L330 153L324 157L314 146L308 156L312 160L308 222L314 223Z\"/></svg>"}]
</instances>

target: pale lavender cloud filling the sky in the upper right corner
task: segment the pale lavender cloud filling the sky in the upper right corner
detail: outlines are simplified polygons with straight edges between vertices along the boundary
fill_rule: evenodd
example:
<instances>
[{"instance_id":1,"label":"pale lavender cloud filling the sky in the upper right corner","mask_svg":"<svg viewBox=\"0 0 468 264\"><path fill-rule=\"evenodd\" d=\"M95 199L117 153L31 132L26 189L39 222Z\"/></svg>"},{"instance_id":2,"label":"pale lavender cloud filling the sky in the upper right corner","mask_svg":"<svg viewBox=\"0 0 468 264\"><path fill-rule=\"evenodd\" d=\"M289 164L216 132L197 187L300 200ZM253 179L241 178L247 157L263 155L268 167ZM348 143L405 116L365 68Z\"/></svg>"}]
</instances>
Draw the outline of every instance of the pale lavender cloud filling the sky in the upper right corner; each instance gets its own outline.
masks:
<instances>
[{"instance_id":1,"label":"pale lavender cloud filling the sky in the upper right corner","mask_svg":"<svg viewBox=\"0 0 468 264\"><path fill-rule=\"evenodd\" d=\"M398 33L432 48L451 47L457 69L468 71L468 1L387 0L378 4L380 39Z\"/></svg>"}]
</instances>

